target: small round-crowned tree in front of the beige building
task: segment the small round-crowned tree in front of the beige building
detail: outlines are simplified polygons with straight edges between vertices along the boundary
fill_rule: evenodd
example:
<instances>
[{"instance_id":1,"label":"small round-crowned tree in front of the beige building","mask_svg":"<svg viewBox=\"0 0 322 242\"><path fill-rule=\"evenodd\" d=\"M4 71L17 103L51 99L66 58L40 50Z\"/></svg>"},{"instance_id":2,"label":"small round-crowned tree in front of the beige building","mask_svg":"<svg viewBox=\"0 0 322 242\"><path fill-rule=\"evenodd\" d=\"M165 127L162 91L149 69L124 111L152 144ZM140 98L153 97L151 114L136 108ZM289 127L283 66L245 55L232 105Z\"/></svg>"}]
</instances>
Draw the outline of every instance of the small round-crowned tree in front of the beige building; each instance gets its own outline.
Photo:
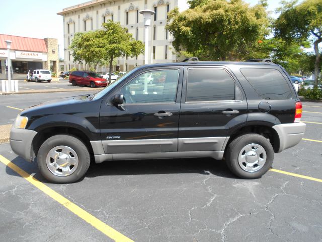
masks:
<instances>
[{"instance_id":1,"label":"small round-crowned tree in front of the beige building","mask_svg":"<svg viewBox=\"0 0 322 242\"><path fill-rule=\"evenodd\" d=\"M109 63L110 80L113 60L125 55L134 57L144 51L141 41L135 40L120 23L111 20L103 23L103 30L76 33L72 39L71 49L74 61L85 61L90 65Z\"/></svg>"}]
</instances>

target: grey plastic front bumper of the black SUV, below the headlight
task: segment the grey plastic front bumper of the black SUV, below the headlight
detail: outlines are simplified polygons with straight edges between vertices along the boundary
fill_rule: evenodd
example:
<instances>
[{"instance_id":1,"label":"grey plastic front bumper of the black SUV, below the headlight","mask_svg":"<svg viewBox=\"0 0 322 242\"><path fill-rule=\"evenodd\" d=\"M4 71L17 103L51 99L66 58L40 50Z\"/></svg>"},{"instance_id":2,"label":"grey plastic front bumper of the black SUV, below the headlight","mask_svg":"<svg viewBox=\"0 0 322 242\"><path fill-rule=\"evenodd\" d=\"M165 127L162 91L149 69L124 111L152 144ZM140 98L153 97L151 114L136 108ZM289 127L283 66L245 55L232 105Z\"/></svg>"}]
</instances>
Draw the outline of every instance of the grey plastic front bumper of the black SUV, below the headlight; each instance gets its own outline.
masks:
<instances>
[{"instance_id":1,"label":"grey plastic front bumper of the black SUV, below the headlight","mask_svg":"<svg viewBox=\"0 0 322 242\"><path fill-rule=\"evenodd\" d=\"M11 149L20 157L31 162L34 159L32 141L37 135L36 131L16 129L14 126L10 132Z\"/></svg>"}]
</instances>

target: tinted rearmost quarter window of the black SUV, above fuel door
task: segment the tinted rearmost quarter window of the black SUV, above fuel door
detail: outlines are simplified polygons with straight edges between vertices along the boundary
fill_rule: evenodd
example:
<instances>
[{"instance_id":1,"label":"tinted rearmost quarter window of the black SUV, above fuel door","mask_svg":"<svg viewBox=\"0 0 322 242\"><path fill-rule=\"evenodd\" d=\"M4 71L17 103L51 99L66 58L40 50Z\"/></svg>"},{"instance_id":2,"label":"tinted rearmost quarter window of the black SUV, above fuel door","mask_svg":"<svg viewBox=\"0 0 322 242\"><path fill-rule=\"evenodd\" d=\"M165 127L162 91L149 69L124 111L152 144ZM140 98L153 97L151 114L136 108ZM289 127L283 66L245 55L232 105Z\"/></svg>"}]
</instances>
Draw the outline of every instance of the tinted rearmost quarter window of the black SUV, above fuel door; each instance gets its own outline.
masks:
<instances>
[{"instance_id":1,"label":"tinted rearmost quarter window of the black SUV, above fuel door","mask_svg":"<svg viewBox=\"0 0 322 242\"><path fill-rule=\"evenodd\" d=\"M294 93L291 91L287 80L276 69L242 68L240 72L263 99L294 98Z\"/></svg>"}]
</instances>

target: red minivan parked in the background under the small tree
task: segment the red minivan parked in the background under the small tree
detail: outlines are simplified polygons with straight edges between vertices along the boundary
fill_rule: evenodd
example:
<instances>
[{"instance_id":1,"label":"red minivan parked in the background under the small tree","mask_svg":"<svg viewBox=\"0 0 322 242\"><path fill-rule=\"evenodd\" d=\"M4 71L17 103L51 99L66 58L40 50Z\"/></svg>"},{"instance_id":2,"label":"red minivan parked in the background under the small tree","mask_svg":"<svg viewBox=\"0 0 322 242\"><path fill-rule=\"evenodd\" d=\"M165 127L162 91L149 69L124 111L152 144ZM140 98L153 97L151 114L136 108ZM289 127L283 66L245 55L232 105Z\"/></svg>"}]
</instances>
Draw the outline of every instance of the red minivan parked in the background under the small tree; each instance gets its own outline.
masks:
<instances>
[{"instance_id":1,"label":"red minivan parked in the background under the small tree","mask_svg":"<svg viewBox=\"0 0 322 242\"><path fill-rule=\"evenodd\" d=\"M69 83L71 85L86 85L91 87L106 87L107 81L104 78L101 78L95 72L88 71L74 71L69 75Z\"/></svg>"}]
</instances>

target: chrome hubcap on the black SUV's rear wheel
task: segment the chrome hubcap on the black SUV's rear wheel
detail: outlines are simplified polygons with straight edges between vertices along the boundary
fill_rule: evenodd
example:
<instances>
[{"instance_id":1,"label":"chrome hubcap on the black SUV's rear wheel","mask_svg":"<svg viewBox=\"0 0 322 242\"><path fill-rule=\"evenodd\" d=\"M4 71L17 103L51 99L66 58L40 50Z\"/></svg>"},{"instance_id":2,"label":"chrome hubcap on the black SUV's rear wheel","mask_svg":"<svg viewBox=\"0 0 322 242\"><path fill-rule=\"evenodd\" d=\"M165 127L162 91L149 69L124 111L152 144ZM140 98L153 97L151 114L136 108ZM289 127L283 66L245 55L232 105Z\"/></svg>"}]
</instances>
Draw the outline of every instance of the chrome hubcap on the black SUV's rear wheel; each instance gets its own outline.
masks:
<instances>
[{"instance_id":1,"label":"chrome hubcap on the black SUV's rear wheel","mask_svg":"<svg viewBox=\"0 0 322 242\"><path fill-rule=\"evenodd\" d=\"M259 144L246 145L238 155L238 164L241 169L255 172L261 169L266 162L266 151Z\"/></svg>"}]
</instances>

